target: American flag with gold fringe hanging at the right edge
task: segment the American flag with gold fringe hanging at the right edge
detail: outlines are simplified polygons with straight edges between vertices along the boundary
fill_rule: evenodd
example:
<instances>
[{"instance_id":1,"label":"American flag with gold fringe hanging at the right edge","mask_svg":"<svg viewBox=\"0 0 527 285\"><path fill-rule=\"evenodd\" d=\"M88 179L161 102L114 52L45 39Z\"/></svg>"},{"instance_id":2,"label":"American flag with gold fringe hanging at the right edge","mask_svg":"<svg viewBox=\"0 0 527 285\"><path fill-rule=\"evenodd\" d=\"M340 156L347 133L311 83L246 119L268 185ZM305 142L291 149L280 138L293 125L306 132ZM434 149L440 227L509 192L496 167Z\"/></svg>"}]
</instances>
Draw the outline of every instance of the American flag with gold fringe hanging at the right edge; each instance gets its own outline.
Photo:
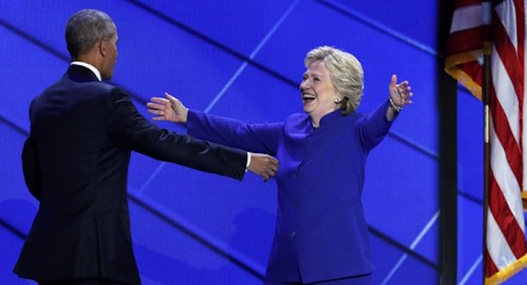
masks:
<instances>
[{"instance_id":1,"label":"American flag with gold fringe hanging at the right edge","mask_svg":"<svg viewBox=\"0 0 527 285\"><path fill-rule=\"evenodd\" d=\"M523 199L527 198L527 104L523 0L456 0L445 71L481 99L483 54L491 54L489 206L485 284L500 284L527 266Z\"/></svg>"}]
</instances>

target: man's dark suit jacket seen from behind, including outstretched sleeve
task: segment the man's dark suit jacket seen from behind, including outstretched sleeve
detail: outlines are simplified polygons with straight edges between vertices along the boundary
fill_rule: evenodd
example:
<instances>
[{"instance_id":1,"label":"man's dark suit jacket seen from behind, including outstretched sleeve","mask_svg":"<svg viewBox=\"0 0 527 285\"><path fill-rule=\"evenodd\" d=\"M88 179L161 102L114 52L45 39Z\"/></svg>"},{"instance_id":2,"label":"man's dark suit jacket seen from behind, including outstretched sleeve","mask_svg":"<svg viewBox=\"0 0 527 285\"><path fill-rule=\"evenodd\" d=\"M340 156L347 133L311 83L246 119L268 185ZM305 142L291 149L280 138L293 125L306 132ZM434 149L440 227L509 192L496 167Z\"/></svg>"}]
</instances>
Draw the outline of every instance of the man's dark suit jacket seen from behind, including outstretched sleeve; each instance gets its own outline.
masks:
<instances>
[{"instance_id":1,"label":"man's dark suit jacket seen from behind, including outstretched sleeve","mask_svg":"<svg viewBox=\"0 0 527 285\"><path fill-rule=\"evenodd\" d=\"M14 271L36 280L100 277L140 284L130 238L130 151L241 180L246 152L160 130L127 93L70 66L33 100L22 154L40 206Z\"/></svg>"}]
</instances>

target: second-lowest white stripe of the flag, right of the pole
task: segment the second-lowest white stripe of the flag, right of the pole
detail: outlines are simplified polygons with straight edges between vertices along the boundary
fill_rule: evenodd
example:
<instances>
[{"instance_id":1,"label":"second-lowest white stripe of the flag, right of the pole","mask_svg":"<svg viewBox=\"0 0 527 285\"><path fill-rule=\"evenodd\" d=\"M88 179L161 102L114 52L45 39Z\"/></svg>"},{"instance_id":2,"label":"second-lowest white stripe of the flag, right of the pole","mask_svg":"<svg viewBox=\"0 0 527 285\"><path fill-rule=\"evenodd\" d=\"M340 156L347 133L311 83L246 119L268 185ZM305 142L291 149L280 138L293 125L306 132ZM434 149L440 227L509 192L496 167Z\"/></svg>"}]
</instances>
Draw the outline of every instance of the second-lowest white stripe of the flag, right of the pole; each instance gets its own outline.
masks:
<instances>
[{"instance_id":1,"label":"second-lowest white stripe of the flag, right of the pole","mask_svg":"<svg viewBox=\"0 0 527 285\"><path fill-rule=\"evenodd\" d=\"M516 177L511 170L511 165L508 164L505 150L503 150L503 147L496 136L494 131L494 120L492 120L492 118L491 156L491 170L494 174L494 179L496 179L496 183L503 193L503 197L505 197L508 208L511 209L516 222L523 232L525 232L525 229L523 229L525 227L523 224L523 205L519 195L521 191L520 185L518 185L518 180L516 180Z\"/></svg>"}]
</instances>

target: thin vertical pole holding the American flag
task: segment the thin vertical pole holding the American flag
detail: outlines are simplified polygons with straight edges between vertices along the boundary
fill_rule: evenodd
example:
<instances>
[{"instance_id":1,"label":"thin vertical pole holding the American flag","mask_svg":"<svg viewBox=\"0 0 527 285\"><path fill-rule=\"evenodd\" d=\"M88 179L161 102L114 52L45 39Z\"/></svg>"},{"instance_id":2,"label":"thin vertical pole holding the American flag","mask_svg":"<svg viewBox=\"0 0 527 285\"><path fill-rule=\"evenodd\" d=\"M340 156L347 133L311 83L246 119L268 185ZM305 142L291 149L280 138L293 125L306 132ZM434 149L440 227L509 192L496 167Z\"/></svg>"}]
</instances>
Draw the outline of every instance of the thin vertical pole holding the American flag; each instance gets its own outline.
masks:
<instances>
[{"instance_id":1,"label":"thin vertical pole holding the American flag","mask_svg":"<svg viewBox=\"0 0 527 285\"><path fill-rule=\"evenodd\" d=\"M492 42L491 42L491 23L492 23L492 6L490 1L484 1L482 9L481 19L483 20L484 28L484 42L483 42L483 83L481 84L481 100L484 104L484 203L483 203L483 284L485 284L485 269L486 269L486 227L487 227L487 214L489 213L489 175L491 170L491 143L490 143L490 132L491 132L491 53L492 53Z\"/></svg>"}]
</instances>

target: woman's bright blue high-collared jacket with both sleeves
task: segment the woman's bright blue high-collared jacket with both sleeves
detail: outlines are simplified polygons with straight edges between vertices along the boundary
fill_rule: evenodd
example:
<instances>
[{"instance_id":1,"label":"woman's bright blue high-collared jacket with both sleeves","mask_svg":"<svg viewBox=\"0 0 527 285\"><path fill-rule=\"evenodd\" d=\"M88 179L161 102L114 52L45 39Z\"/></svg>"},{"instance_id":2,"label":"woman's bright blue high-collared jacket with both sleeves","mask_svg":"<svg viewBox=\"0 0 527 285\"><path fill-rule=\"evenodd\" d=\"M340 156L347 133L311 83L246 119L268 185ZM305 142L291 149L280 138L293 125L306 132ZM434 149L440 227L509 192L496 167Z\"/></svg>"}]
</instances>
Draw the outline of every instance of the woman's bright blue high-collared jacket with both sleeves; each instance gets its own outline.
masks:
<instances>
[{"instance_id":1,"label":"woman's bright blue high-collared jacket with both sleeves","mask_svg":"<svg viewBox=\"0 0 527 285\"><path fill-rule=\"evenodd\" d=\"M392 125L388 106L368 115L336 110L319 128L306 114L253 124L189 111L189 135L278 158L278 214L266 279L311 283L372 272L360 199L367 154Z\"/></svg>"}]
</instances>

